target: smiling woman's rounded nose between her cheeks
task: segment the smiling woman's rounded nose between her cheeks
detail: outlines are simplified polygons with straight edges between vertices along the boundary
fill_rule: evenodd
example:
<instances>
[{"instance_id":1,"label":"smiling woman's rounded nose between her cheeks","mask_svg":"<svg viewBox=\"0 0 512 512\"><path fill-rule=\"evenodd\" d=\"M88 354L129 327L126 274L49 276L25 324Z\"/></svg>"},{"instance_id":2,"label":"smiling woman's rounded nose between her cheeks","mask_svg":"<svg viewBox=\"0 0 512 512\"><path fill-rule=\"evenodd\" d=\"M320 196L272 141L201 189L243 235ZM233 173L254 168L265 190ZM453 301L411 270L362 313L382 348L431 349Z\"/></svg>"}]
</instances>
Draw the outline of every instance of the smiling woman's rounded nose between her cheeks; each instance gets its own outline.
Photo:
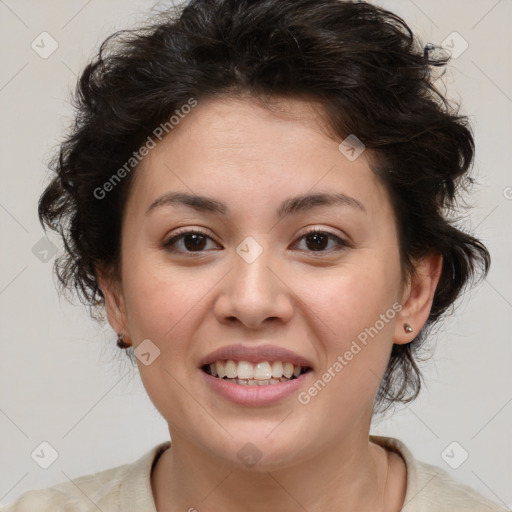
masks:
<instances>
[{"instance_id":1,"label":"smiling woman's rounded nose between her cheeks","mask_svg":"<svg viewBox=\"0 0 512 512\"><path fill-rule=\"evenodd\" d=\"M233 267L220 283L213 307L219 322L261 329L270 323L290 320L294 309L293 292L269 253L264 250L251 263L234 255Z\"/></svg>"}]
</instances>

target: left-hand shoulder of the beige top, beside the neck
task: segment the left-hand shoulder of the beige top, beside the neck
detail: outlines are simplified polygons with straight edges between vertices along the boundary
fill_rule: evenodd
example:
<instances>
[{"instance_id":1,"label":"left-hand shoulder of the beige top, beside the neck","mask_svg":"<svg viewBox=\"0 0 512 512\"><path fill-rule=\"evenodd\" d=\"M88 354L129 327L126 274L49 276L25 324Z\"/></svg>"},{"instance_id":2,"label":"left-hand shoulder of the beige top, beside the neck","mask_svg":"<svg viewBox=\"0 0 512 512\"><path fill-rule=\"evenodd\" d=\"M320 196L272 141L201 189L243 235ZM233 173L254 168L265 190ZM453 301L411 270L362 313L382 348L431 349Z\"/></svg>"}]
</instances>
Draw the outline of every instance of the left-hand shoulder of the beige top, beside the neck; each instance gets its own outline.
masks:
<instances>
[{"instance_id":1,"label":"left-hand shoulder of the beige top, beside the neck","mask_svg":"<svg viewBox=\"0 0 512 512\"><path fill-rule=\"evenodd\" d=\"M26 491L0 512L118 512L140 506L150 512L154 503L151 469L168 446L168 442L159 444L130 464Z\"/></svg>"}]
</instances>

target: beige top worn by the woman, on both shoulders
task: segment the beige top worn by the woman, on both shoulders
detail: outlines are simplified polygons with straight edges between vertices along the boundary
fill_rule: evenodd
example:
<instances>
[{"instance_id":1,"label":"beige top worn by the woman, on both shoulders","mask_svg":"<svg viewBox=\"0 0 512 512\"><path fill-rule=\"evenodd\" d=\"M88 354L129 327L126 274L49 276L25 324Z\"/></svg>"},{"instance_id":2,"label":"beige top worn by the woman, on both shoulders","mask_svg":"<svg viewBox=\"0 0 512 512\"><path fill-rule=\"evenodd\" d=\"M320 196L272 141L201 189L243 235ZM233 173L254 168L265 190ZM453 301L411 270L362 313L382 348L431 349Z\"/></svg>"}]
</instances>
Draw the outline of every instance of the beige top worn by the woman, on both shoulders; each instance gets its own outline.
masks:
<instances>
[{"instance_id":1,"label":"beige top worn by the woman, on both shoulders","mask_svg":"<svg viewBox=\"0 0 512 512\"><path fill-rule=\"evenodd\" d=\"M401 512L506 512L443 469L416 460L398 439L370 435L370 440L398 452L407 466L407 491ZM84 475L41 490L27 491L1 512L157 512L151 470L170 446L161 443L132 464Z\"/></svg>"}]
</instances>

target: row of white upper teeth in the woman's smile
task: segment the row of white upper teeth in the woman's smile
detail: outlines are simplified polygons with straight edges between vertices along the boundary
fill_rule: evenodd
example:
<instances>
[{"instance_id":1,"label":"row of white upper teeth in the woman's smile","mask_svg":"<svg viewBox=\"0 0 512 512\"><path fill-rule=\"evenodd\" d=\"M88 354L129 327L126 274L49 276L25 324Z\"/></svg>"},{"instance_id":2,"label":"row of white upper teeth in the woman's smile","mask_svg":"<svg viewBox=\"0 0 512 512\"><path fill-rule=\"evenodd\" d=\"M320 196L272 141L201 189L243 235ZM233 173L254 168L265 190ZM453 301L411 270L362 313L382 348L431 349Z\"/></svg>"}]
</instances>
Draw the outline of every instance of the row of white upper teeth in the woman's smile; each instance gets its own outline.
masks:
<instances>
[{"instance_id":1,"label":"row of white upper teeth in the woman's smile","mask_svg":"<svg viewBox=\"0 0 512 512\"><path fill-rule=\"evenodd\" d=\"M281 377L291 378L291 376L298 377L302 367L294 365L293 363L282 363L281 361L261 361L252 364L248 361L215 361L210 364L210 372L216 377L221 379L227 377L228 379L255 379L255 380L268 380L271 378L279 379Z\"/></svg>"}]
</instances>

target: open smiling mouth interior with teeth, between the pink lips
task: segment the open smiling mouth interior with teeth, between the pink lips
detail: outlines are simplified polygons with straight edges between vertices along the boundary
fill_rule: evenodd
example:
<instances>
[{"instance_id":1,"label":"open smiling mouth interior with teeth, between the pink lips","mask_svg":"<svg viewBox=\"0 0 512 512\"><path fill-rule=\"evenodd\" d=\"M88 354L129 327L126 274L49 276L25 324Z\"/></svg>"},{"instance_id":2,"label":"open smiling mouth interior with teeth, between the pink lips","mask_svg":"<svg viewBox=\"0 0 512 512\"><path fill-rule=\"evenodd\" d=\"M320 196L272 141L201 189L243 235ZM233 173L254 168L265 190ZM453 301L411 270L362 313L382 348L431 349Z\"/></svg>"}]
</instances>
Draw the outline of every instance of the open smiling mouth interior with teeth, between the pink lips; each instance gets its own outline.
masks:
<instances>
[{"instance_id":1,"label":"open smiling mouth interior with teeth, between the pink lips","mask_svg":"<svg viewBox=\"0 0 512 512\"><path fill-rule=\"evenodd\" d=\"M205 364L201 368L205 373L243 386L268 386L281 384L297 379L304 373L311 371L308 366L300 366L282 361L234 361L232 359L219 360Z\"/></svg>"}]
</instances>

